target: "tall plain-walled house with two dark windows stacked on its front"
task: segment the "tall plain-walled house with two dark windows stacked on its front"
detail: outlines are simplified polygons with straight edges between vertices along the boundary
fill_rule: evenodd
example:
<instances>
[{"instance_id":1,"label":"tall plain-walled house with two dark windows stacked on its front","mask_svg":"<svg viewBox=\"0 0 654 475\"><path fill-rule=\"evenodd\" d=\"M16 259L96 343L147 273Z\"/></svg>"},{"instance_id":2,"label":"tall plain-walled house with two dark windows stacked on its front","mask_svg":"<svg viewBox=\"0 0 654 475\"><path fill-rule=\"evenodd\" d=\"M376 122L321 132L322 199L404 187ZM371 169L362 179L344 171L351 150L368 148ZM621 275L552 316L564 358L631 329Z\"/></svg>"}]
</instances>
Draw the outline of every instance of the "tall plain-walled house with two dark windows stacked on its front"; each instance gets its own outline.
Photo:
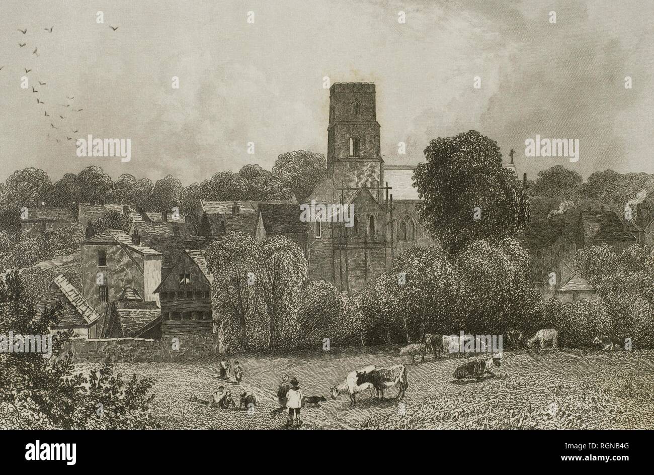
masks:
<instances>
[{"instance_id":1,"label":"tall plain-walled house with two dark windows stacked on its front","mask_svg":"<svg viewBox=\"0 0 654 475\"><path fill-rule=\"evenodd\" d=\"M80 246L82 295L95 311L105 315L126 287L135 288L144 301L158 302L154 289L161 283L162 254L118 229L84 240Z\"/></svg>"}]
</instances>

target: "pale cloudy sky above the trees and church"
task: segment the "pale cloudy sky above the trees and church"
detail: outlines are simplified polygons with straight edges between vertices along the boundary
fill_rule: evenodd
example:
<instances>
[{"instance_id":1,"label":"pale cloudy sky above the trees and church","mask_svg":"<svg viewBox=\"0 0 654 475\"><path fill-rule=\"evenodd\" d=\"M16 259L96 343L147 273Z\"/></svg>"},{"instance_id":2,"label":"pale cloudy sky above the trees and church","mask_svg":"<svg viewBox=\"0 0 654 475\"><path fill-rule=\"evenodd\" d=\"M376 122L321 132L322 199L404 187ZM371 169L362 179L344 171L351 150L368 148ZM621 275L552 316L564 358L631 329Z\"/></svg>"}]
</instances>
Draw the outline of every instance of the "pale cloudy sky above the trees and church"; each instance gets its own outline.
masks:
<instances>
[{"instance_id":1,"label":"pale cloudy sky above the trees and church","mask_svg":"<svg viewBox=\"0 0 654 475\"><path fill-rule=\"evenodd\" d=\"M190 184L326 154L325 76L376 84L390 165L475 129L506 161L514 148L528 178L553 165L653 173L652 20L650 0L0 0L0 180L99 165ZM131 160L78 157L88 134L130 139ZM579 161L525 157L536 135L579 139Z\"/></svg>"}]
</instances>

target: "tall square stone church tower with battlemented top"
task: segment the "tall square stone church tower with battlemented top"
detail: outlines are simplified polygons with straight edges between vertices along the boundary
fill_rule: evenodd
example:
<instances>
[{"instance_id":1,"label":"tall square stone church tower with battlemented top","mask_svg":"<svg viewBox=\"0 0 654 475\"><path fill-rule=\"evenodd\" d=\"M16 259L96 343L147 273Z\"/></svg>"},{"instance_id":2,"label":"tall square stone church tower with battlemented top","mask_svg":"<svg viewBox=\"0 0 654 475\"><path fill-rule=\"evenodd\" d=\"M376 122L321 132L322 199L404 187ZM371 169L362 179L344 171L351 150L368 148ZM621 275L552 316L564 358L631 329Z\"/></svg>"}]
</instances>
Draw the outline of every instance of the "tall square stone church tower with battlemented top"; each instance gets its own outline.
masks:
<instances>
[{"instance_id":1,"label":"tall square stone church tower with battlemented top","mask_svg":"<svg viewBox=\"0 0 654 475\"><path fill-rule=\"evenodd\" d=\"M384 161L379 144L375 84L336 82L330 88L327 173L336 188L366 186L381 203ZM346 190L345 195L350 193Z\"/></svg>"}]
</instances>

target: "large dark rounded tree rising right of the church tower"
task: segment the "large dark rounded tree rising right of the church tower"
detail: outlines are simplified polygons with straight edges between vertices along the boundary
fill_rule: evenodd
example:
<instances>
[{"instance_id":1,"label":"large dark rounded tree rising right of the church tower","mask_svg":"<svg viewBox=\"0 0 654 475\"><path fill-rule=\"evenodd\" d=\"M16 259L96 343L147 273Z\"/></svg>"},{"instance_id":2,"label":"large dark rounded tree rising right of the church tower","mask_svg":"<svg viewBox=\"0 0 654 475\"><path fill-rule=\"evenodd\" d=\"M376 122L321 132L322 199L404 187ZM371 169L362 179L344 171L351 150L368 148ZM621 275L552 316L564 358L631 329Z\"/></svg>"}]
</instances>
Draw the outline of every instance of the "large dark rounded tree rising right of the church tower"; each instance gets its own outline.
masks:
<instances>
[{"instance_id":1,"label":"large dark rounded tree rising right of the church tower","mask_svg":"<svg viewBox=\"0 0 654 475\"><path fill-rule=\"evenodd\" d=\"M525 229L523 190L502 167L500 148L477 131L432 140L415 169L422 223L448 254L481 238L501 240Z\"/></svg>"}]
</instances>

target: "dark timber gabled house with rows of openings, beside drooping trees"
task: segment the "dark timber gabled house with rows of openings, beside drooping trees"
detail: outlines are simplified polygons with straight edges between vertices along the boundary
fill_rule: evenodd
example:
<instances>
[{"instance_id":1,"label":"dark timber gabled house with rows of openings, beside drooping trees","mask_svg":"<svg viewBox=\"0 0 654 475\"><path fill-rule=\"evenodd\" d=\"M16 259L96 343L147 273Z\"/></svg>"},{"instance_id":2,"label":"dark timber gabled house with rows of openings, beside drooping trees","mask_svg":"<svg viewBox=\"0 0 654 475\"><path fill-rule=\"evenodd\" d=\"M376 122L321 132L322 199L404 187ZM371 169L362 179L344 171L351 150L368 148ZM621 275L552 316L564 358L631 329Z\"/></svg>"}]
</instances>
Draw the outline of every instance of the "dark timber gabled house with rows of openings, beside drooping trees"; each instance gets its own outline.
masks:
<instances>
[{"instance_id":1,"label":"dark timber gabled house with rows of openings, beside drooping trees","mask_svg":"<svg viewBox=\"0 0 654 475\"><path fill-rule=\"evenodd\" d=\"M162 308L162 335L212 333L211 284L203 251L185 249L154 290Z\"/></svg>"}]
</instances>

